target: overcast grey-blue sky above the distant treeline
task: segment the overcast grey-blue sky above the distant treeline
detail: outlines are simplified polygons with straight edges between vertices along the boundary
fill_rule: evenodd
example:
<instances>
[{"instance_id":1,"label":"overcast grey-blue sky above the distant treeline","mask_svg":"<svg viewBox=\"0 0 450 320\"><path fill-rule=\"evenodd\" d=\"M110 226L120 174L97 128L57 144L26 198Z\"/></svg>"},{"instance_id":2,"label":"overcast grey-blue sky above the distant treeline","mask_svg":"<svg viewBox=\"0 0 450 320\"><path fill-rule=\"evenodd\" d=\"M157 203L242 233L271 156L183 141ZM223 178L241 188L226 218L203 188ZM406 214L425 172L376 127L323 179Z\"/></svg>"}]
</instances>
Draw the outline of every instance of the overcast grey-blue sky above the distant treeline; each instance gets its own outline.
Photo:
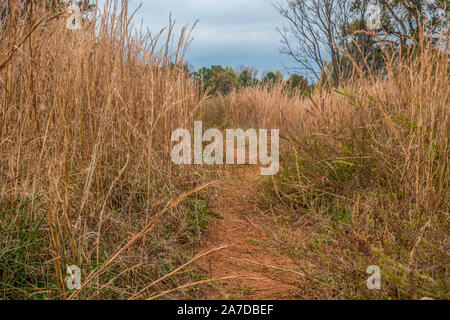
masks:
<instances>
[{"instance_id":1,"label":"overcast grey-blue sky above the distant treeline","mask_svg":"<svg viewBox=\"0 0 450 320\"><path fill-rule=\"evenodd\" d=\"M246 65L261 73L279 69L286 74L288 57L279 53L275 28L283 20L272 6L279 0L130 0L142 3L135 22L143 20L153 32L166 26L172 13L178 28L199 19L187 54L196 68L211 65Z\"/></svg>"}]
</instances>

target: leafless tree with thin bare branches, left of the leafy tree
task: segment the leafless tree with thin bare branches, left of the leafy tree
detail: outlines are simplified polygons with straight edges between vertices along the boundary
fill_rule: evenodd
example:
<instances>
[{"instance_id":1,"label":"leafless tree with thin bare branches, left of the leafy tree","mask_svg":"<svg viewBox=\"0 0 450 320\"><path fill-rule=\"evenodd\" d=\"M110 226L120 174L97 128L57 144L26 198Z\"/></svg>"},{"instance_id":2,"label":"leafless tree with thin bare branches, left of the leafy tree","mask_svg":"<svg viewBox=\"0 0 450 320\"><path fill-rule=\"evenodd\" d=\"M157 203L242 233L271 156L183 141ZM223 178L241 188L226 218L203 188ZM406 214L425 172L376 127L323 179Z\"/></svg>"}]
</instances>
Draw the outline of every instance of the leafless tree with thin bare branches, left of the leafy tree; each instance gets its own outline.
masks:
<instances>
[{"instance_id":1,"label":"leafless tree with thin bare branches, left of the leafy tree","mask_svg":"<svg viewBox=\"0 0 450 320\"><path fill-rule=\"evenodd\" d=\"M338 44L345 35L339 26L351 20L350 1L288 0L275 5L288 23L278 28L282 38L281 52L291 56L293 68L317 81L331 61L333 72L340 73ZM336 77L336 85L340 77Z\"/></svg>"}]
</instances>

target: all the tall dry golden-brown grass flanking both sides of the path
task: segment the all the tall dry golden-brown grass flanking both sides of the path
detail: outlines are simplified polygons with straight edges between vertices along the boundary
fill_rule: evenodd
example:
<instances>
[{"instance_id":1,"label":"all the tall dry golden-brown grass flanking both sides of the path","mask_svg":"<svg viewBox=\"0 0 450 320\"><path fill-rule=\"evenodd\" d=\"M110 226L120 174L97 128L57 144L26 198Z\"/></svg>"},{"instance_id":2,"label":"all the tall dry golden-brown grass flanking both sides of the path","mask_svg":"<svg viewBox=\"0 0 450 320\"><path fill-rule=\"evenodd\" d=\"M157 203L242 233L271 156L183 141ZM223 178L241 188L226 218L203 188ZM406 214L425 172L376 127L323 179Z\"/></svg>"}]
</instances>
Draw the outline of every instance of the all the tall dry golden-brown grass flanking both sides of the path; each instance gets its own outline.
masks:
<instances>
[{"instance_id":1,"label":"all the tall dry golden-brown grass flanking both sides of the path","mask_svg":"<svg viewBox=\"0 0 450 320\"><path fill-rule=\"evenodd\" d=\"M421 39L384 77L310 97L207 100L183 68L189 30L134 32L126 7L95 21L69 32L36 7L0 33L0 299L204 297L186 284L206 280L189 261L215 216L211 173L170 161L172 131L199 112L280 129L282 171L255 201L307 275L304 298L450 298L447 43ZM305 227L309 242L288 236ZM67 291L67 265L81 290Z\"/></svg>"}]
</instances>

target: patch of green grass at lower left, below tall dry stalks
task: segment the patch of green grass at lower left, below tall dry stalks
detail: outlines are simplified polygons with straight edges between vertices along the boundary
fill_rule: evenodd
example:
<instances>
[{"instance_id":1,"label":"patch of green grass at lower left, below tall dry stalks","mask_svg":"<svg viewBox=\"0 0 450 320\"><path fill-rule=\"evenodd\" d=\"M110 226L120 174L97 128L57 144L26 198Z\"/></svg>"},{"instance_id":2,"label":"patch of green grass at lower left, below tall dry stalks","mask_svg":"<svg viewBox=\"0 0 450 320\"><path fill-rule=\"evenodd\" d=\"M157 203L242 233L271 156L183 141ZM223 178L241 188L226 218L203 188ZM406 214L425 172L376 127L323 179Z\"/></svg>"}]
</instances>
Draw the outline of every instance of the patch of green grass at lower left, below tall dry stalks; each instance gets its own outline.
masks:
<instances>
[{"instance_id":1,"label":"patch of green grass at lower left, below tall dry stalks","mask_svg":"<svg viewBox=\"0 0 450 320\"><path fill-rule=\"evenodd\" d=\"M17 199L0 209L0 221L7 222L0 224L0 297L3 299L44 299L45 293L34 293L55 289L53 282L36 273L45 262L43 248L48 248L42 229L45 218L46 211L40 208L39 199Z\"/></svg>"}]
</instances>

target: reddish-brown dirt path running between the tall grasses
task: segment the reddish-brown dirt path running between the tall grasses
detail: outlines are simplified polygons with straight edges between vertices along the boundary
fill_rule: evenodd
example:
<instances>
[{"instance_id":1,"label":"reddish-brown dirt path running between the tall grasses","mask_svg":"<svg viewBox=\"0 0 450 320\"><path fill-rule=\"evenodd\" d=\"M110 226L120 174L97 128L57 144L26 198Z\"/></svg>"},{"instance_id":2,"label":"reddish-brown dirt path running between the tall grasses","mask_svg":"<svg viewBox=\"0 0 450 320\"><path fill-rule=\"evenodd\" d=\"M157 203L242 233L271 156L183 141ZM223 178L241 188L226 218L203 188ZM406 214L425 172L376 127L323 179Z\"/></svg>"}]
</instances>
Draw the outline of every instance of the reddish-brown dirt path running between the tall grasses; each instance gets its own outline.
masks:
<instances>
[{"instance_id":1,"label":"reddish-brown dirt path running between the tall grasses","mask_svg":"<svg viewBox=\"0 0 450 320\"><path fill-rule=\"evenodd\" d=\"M200 261L210 278L230 275L236 279L211 288L211 299L298 299L301 277L289 257L266 244L272 219L261 214L251 199L259 169L242 167L226 172L212 201L221 219L210 223L204 249L228 245ZM266 231L265 231L266 230ZM270 231L269 231L270 232Z\"/></svg>"}]
</instances>

